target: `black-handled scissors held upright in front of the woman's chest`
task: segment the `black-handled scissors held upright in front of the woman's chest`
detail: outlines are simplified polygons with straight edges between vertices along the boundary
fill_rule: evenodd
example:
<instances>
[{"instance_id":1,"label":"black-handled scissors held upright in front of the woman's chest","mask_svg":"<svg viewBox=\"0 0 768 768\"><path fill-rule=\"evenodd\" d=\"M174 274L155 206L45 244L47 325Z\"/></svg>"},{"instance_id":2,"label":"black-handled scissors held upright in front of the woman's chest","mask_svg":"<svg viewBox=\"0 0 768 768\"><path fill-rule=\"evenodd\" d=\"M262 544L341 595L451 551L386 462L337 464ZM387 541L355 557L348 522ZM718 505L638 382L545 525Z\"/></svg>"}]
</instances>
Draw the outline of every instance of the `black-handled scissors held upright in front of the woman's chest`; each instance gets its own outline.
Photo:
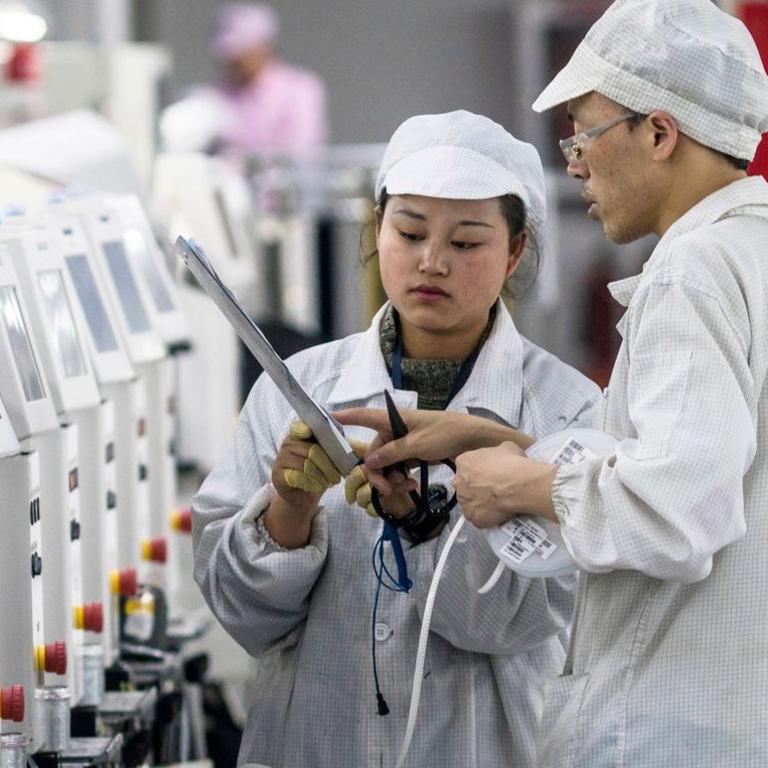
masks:
<instances>
[{"instance_id":1,"label":"black-handled scissors held upright in front of the woman's chest","mask_svg":"<svg viewBox=\"0 0 768 768\"><path fill-rule=\"evenodd\" d=\"M392 436L399 440L408 434L408 427L389 392L384 392L384 399L387 403L387 415L389 416ZM456 473L456 465L450 459L442 459L441 463L445 464L454 474ZM408 476L408 467L402 461L385 467L384 474L395 470L402 472L406 477ZM424 541L437 524L448 517L448 513L456 506L457 501L455 491L453 496L448 499L448 494L442 486L433 486L430 489L429 464L426 461L419 461L419 473L419 491L411 490L408 492L411 501L413 501L414 509L405 517L395 517L387 512L381 505L381 494L378 489L371 488L371 504L373 504L376 514L396 528L403 528L406 536L413 543Z\"/></svg>"}]
</instances>

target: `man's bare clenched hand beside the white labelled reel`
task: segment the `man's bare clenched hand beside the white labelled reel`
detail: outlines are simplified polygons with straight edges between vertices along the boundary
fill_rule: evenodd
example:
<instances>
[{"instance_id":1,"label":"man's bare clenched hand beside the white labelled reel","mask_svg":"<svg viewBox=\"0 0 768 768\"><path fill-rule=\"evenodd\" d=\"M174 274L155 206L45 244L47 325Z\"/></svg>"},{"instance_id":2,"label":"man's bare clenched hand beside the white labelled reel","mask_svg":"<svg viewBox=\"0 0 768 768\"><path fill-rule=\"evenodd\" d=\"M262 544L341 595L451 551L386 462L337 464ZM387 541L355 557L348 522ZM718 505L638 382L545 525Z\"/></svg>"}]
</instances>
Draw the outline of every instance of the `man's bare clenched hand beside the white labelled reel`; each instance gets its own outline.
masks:
<instances>
[{"instance_id":1,"label":"man's bare clenched hand beside the white labelled reel","mask_svg":"<svg viewBox=\"0 0 768 768\"><path fill-rule=\"evenodd\" d=\"M464 453L456 460L453 485L464 516L477 528L503 525L516 515L557 522L552 481L557 467L525 457L511 442Z\"/></svg>"}]
</instances>

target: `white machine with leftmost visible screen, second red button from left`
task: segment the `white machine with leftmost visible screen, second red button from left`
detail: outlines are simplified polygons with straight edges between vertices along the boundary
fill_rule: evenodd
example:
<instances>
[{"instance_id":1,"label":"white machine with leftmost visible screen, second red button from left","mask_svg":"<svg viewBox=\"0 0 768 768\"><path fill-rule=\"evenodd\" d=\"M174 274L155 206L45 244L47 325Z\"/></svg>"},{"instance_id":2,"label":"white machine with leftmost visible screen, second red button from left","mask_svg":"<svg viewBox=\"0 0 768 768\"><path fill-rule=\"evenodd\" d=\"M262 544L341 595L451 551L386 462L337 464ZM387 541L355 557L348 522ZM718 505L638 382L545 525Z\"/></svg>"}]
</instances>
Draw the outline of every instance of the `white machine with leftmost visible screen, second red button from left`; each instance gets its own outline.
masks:
<instances>
[{"instance_id":1,"label":"white machine with leftmost visible screen, second red button from left","mask_svg":"<svg viewBox=\"0 0 768 768\"><path fill-rule=\"evenodd\" d=\"M34 751L41 739L38 726L45 729L38 719L36 694L45 692L44 683L58 683L60 690L61 676L66 675L68 667L66 627L60 635L52 636L50 627L44 624L43 595L60 585L49 584L43 590L42 578L48 556L52 561L61 557L69 536L58 547L46 550L42 523L46 517L76 521L73 515L77 512L77 501L69 484L70 473L77 471L77 446L76 428L59 426L29 328L29 316L8 247L0 243L0 396L22 449L16 457L3 459L2 464L3 471L9 473L3 476L0 485L3 510L6 495L7 509L21 509L19 514L4 515L7 529L0 537L0 548L3 572L9 581L4 584L0 599L13 601L13 618L3 622L3 634L17 633L13 638L14 658L20 666L14 677L30 686L24 731ZM39 471L41 465L45 466L43 473ZM15 565L6 570L6 563ZM60 599L63 601L64 596ZM3 670L9 669L4 661Z\"/></svg>"}]
</instances>

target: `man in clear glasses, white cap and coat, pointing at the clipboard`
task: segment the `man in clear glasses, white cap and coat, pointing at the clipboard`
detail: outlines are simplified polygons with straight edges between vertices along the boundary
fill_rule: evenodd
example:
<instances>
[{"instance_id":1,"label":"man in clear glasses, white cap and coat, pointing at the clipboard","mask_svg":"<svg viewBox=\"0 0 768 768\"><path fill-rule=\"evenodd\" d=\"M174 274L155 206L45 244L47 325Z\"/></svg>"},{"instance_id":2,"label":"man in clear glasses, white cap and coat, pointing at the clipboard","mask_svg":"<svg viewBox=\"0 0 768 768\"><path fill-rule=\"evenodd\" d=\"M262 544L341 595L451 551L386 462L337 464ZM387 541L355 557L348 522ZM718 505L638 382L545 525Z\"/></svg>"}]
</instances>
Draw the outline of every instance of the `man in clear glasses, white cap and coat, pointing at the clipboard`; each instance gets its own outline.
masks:
<instances>
[{"instance_id":1,"label":"man in clear glasses, white cap and coat, pointing at the clipboard","mask_svg":"<svg viewBox=\"0 0 768 768\"><path fill-rule=\"evenodd\" d=\"M610 286L626 312L602 428L620 442L559 469L509 444L471 451L459 498L476 525L558 520L584 571L542 766L762 768L768 185L744 169L768 131L768 78L714 3L619 0L534 108L564 102L589 216L617 243L660 237L641 274ZM482 444L466 422L416 420L407 455L458 453L462 433Z\"/></svg>"}]
</instances>

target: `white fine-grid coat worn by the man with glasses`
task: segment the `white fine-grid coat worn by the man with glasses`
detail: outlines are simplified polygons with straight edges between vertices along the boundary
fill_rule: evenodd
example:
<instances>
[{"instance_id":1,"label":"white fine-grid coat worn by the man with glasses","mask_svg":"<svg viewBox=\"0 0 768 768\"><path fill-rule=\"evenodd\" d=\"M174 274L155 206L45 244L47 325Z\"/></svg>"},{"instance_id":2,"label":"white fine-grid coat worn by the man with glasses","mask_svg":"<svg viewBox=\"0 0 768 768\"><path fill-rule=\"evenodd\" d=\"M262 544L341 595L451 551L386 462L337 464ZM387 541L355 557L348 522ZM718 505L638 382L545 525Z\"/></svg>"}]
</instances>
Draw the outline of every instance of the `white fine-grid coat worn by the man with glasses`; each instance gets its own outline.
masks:
<instances>
[{"instance_id":1,"label":"white fine-grid coat worn by the man with glasses","mask_svg":"<svg viewBox=\"0 0 768 768\"><path fill-rule=\"evenodd\" d=\"M558 470L582 566L547 768L768 765L768 184L734 182L664 235L626 312L602 428Z\"/></svg>"}]
</instances>

